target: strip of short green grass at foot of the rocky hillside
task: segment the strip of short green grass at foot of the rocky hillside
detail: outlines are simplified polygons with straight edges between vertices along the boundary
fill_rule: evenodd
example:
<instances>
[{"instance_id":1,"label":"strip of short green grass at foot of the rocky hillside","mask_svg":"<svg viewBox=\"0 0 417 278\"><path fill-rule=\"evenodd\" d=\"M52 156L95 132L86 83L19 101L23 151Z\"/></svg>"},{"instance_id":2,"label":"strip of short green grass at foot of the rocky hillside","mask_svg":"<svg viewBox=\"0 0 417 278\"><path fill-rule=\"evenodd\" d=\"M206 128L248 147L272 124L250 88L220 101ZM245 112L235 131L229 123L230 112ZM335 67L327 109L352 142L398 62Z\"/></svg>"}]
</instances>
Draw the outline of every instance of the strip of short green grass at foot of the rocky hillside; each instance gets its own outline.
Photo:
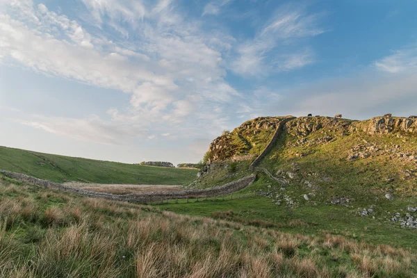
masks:
<instances>
[{"instance_id":1,"label":"strip of short green grass at foot of the rocky hillside","mask_svg":"<svg viewBox=\"0 0 417 278\"><path fill-rule=\"evenodd\" d=\"M246 195L246 194L245 194ZM184 215L213 217L218 212L233 211L233 215L222 219L254 223L261 227L275 226L290 234L304 234L308 236L320 234L332 234L345 236L352 240L361 240L372 244L386 244L404 249L417 249L416 231L401 229L390 223L385 223L379 218L362 218L353 213L352 208L344 206L321 204L314 206L303 204L297 208L287 209L285 206L277 206L265 197L247 197L240 199L239 194L218 197L216 200L200 199L178 204L170 201L165 204L154 205L161 210L172 211ZM293 227L293 222L300 220L305 225ZM265 222L265 223L263 223ZM395 236L394 236L395 235Z\"/></svg>"}]
</instances>

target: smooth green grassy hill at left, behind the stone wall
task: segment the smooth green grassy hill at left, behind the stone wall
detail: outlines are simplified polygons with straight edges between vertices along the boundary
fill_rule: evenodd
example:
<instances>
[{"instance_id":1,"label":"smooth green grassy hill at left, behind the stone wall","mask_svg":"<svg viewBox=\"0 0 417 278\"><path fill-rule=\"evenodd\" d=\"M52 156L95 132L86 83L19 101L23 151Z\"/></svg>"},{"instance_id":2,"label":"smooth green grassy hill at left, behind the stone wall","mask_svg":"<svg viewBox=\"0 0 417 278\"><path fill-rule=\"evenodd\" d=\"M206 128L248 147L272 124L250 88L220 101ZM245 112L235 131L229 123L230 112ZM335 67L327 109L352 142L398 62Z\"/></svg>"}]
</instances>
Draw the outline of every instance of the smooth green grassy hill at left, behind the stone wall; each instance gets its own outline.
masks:
<instances>
[{"instance_id":1,"label":"smooth green grassy hill at left, behind the stone wall","mask_svg":"<svg viewBox=\"0 0 417 278\"><path fill-rule=\"evenodd\" d=\"M0 147L0 169L62 183L188 184L197 170L152 167Z\"/></svg>"}]
</instances>

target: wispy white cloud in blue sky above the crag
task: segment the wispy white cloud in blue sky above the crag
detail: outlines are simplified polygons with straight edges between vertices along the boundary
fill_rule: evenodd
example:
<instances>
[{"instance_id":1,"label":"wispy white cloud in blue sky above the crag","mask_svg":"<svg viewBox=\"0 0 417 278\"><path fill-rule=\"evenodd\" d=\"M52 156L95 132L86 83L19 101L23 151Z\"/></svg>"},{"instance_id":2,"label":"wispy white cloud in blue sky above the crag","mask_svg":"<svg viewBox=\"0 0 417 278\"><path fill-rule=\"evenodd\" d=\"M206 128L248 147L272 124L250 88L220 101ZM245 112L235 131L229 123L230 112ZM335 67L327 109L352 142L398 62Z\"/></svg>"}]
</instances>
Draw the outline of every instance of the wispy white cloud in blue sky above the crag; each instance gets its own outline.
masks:
<instances>
[{"instance_id":1,"label":"wispy white cloud in blue sky above the crag","mask_svg":"<svg viewBox=\"0 0 417 278\"><path fill-rule=\"evenodd\" d=\"M318 27L320 17L308 15L305 7L281 6L253 40L240 44L231 70L243 76L262 76L313 63L313 51L306 47L300 49L295 42L325 32Z\"/></svg>"}]
</instances>

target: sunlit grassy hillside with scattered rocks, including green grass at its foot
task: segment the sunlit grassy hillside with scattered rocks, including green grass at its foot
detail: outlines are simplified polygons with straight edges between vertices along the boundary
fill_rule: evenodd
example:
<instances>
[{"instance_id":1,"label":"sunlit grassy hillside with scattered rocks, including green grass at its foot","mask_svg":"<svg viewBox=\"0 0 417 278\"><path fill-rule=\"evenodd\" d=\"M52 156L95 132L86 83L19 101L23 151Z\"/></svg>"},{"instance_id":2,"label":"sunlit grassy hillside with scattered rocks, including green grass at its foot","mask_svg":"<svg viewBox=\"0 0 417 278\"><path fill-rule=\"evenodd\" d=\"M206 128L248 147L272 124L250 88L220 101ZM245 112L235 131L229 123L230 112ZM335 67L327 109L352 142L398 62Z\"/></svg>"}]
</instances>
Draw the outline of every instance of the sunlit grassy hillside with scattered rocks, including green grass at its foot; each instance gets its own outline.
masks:
<instances>
[{"instance_id":1,"label":"sunlit grassy hillside with scattered rocks, including green grass at its foot","mask_svg":"<svg viewBox=\"0 0 417 278\"><path fill-rule=\"evenodd\" d=\"M221 151L228 142L215 140L211 149L217 149L216 157L224 160L212 160L191 186L219 186L252 171L258 179L224 202L208 199L193 206L180 202L162 207L238 222L269 221L288 233L330 233L367 243L417 248L416 131L416 120L405 118L297 118L281 131L259 163L261 170L251 170L251 160L233 161L236 153L227 156ZM221 142L226 143L220 147ZM294 221L305 225L291 227Z\"/></svg>"}]
</instances>

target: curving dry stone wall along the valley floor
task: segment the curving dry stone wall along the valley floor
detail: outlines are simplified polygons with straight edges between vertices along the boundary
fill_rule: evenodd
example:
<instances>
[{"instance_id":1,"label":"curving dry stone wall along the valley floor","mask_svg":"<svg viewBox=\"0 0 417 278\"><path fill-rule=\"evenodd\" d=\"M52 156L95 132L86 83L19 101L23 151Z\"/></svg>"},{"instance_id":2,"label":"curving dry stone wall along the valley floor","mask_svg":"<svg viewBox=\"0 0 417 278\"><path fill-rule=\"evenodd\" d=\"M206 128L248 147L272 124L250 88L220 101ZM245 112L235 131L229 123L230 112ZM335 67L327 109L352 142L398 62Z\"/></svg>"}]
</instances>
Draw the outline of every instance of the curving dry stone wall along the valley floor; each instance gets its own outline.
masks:
<instances>
[{"instance_id":1,"label":"curving dry stone wall along the valley floor","mask_svg":"<svg viewBox=\"0 0 417 278\"><path fill-rule=\"evenodd\" d=\"M227 195L234 193L238 190L241 190L249 186L256 179L255 174L251 174L237 181L232 181L226 183L223 186L218 186L215 188L206 188L206 189L194 189L194 190L181 190L181 191L161 191L154 193L140 193L140 194L126 194L126 195L114 195L110 193L99 193L96 191L85 190L83 188L74 188L72 186L64 186L60 183L54 183L51 181L45 181L43 179L37 179L35 177L27 176L26 174L19 174L15 172L8 172L0 170L0 174L9 177L10 179L15 179L17 181L22 181L24 183L31 183L36 186L42 186L44 188L54 188L62 191L69 191L85 195L88 197L99 197L105 199L113 199L117 201L125 202L154 202L154 201L163 201L165 199L188 199L188 198L204 198L204 197L215 197L219 195Z\"/></svg>"}]
</instances>

